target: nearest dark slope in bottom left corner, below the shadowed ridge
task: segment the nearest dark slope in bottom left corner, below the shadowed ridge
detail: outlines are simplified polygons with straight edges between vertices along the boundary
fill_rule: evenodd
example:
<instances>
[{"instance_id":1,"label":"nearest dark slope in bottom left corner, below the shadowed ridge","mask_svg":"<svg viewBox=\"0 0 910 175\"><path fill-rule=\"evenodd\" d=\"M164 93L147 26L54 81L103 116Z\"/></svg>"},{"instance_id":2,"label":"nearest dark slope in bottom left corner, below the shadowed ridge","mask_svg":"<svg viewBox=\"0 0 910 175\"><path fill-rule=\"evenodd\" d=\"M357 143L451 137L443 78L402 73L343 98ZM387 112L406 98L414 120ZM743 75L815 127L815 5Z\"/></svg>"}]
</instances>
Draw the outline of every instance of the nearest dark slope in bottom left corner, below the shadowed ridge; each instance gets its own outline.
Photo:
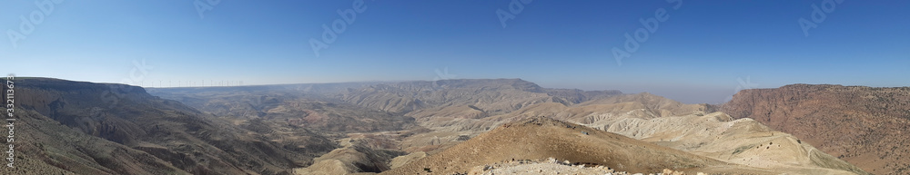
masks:
<instances>
[{"instance_id":1,"label":"nearest dark slope in bottom left corner, below the shadowed ridge","mask_svg":"<svg viewBox=\"0 0 910 175\"><path fill-rule=\"evenodd\" d=\"M0 174L189 174L146 151L76 131L38 112L15 108L15 115L15 140L0 141L15 146L15 168L7 168L5 160Z\"/></svg>"}]
</instances>

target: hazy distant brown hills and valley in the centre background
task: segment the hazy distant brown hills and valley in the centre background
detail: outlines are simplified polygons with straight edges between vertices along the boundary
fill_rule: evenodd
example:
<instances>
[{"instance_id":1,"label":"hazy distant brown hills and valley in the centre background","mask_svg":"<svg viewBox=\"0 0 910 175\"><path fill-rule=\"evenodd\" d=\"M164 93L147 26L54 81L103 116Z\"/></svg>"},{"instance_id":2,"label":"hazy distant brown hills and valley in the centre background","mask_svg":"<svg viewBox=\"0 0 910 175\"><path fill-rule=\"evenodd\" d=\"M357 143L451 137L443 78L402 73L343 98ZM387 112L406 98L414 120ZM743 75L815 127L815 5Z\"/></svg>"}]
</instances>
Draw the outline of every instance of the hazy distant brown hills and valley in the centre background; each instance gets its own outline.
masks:
<instances>
[{"instance_id":1,"label":"hazy distant brown hills and valley in the centre background","mask_svg":"<svg viewBox=\"0 0 910 175\"><path fill-rule=\"evenodd\" d=\"M324 131L335 140L347 137L343 133L400 131L403 134L395 134L389 142L404 140L405 143L399 144L399 149L404 151L436 151L450 146L458 137L489 131L502 123L484 120L493 115L541 103L574 105L621 95L619 91L541 88L521 79L149 88L148 91L241 126L253 122L270 123L268 126L272 128L294 126ZM654 109L672 109L666 106L654 106ZM421 134L428 131L435 132Z\"/></svg>"}]
</instances>

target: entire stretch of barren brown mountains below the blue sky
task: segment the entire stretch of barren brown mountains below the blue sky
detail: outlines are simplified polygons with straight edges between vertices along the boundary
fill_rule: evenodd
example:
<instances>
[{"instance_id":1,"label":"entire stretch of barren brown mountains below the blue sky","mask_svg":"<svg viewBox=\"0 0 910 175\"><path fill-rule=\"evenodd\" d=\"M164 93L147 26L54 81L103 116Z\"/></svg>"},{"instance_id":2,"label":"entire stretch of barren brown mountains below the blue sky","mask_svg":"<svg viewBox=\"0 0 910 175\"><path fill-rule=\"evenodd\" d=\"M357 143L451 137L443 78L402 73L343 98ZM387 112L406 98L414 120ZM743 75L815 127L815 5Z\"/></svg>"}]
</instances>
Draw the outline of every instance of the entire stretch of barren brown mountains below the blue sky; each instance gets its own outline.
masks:
<instances>
[{"instance_id":1,"label":"entire stretch of barren brown mountains below the blue sky","mask_svg":"<svg viewBox=\"0 0 910 175\"><path fill-rule=\"evenodd\" d=\"M713 105L521 79L186 88L15 82L22 139L14 143L24 153L4 173L461 174L548 158L642 173L910 167L900 160L906 88L794 84Z\"/></svg>"}]
</instances>

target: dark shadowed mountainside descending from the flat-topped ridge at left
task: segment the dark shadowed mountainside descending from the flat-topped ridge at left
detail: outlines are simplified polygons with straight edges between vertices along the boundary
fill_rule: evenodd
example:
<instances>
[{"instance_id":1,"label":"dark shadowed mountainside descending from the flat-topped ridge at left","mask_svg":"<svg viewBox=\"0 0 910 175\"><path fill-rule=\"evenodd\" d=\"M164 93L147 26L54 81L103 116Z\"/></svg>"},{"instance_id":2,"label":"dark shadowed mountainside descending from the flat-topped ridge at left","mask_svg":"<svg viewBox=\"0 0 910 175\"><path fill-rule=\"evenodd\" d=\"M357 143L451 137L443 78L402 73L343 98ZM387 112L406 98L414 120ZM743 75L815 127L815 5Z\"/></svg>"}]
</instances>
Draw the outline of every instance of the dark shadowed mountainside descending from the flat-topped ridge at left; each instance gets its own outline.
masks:
<instances>
[{"instance_id":1,"label":"dark shadowed mountainside descending from the flat-topped ridge at left","mask_svg":"<svg viewBox=\"0 0 910 175\"><path fill-rule=\"evenodd\" d=\"M287 140L249 131L135 86L45 78L15 84L18 112L27 119L21 133L36 144L23 147L31 150L23 160L34 169L289 174L336 148L333 141L303 129L290 131L295 137Z\"/></svg>"}]
</instances>

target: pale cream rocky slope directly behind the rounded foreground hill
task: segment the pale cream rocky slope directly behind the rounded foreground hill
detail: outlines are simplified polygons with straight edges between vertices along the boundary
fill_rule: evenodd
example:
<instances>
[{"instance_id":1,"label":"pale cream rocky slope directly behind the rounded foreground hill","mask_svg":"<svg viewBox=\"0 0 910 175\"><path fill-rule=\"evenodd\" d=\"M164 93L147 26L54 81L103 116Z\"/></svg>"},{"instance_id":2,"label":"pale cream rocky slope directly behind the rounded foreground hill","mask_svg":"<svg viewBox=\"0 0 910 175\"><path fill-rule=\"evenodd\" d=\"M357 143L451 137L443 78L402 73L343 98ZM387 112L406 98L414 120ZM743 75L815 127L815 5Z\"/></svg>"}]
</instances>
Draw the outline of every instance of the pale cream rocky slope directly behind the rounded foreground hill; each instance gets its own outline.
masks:
<instances>
[{"instance_id":1,"label":"pale cream rocky slope directly behind the rounded foreground hill","mask_svg":"<svg viewBox=\"0 0 910 175\"><path fill-rule=\"evenodd\" d=\"M759 122L733 120L723 112L706 113L703 104L682 104L648 93L598 101L572 106L544 102L483 119L424 122L422 125L433 131L406 138L401 145L403 148L422 146L413 151L433 154L462 144L457 139L460 136L474 136L502 123L547 116L755 169L797 174L866 174L854 165Z\"/></svg>"}]
</instances>

